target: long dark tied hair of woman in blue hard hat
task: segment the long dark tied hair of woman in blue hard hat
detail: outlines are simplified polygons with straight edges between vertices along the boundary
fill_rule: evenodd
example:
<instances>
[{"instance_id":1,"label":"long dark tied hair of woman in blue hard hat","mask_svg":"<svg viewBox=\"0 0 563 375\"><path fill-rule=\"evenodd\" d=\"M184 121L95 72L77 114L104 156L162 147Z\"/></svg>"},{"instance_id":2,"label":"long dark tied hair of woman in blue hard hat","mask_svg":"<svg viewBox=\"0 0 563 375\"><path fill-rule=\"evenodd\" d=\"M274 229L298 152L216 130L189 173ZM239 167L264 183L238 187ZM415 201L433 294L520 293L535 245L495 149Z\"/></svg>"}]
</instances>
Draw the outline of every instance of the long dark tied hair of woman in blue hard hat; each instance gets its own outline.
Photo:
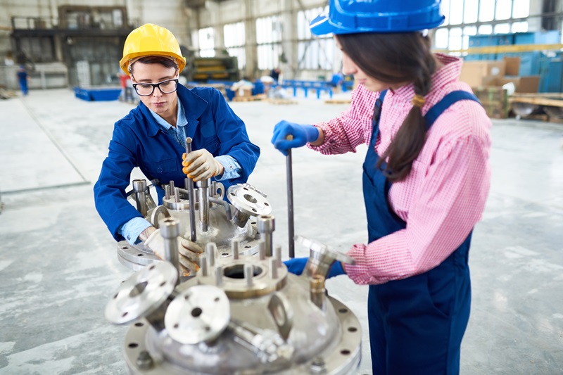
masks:
<instances>
[{"instance_id":1,"label":"long dark tied hair of woman in blue hard hat","mask_svg":"<svg viewBox=\"0 0 563 375\"><path fill-rule=\"evenodd\" d=\"M336 38L342 51L369 77L388 84L412 82L415 94L422 96L430 91L436 58L430 51L430 39L421 33L341 34ZM413 106L377 167L388 157L386 177L392 182L405 179L424 141L424 117L421 108Z\"/></svg>"}]
</instances>

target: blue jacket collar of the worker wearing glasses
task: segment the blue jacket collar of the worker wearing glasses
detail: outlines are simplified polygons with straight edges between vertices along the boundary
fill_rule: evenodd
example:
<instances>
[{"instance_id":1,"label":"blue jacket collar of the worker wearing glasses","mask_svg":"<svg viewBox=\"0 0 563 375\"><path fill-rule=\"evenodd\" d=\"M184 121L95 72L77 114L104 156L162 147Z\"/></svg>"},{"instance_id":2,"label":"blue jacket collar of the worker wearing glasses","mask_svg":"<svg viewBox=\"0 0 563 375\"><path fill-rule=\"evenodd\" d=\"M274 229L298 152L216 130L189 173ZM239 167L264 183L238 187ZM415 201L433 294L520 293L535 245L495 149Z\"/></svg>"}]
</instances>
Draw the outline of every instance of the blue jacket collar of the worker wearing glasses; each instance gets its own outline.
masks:
<instances>
[{"instance_id":1,"label":"blue jacket collar of the worker wearing glasses","mask_svg":"<svg viewBox=\"0 0 563 375\"><path fill-rule=\"evenodd\" d=\"M184 107L184 113L186 114L186 120L188 120L188 127L186 128L186 136L194 137L196 127L199 124L198 118L201 117L205 109L209 105L205 99L197 94L194 94L190 89L178 84L177 88L178 100L182 103ZM151 110L149 110L142 102L139 103L139 108L141 113L148 118L153 119L151 115ZM156 136L158 130L162 129L156 121L147 121L147 135Z\"/></svg>"}]
</instances>

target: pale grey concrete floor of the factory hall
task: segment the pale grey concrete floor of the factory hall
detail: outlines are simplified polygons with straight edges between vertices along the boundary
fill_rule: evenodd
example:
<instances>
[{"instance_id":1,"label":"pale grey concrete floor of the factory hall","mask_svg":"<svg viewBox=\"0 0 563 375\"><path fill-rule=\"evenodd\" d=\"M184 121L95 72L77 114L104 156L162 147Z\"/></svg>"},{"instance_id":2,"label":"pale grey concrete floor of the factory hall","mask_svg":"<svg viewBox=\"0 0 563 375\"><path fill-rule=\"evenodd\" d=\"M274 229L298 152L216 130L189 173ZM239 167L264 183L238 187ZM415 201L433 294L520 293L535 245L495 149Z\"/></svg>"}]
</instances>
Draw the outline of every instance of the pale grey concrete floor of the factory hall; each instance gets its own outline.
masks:
<instances>
[{"instance_id":1,"label":"pale grey concrete floor of the factory hall","mask_svg":"<svg viewBox=\"0 0 563 375\"><path fill-rule=\"evenodd\" d=\"M94 209L92 186L113 122L131 105L31 91L0 102L0 374L125 374L127 327L103 310L132 272ZM346 105L232 103L262 155L250 183L268 195L274 244L287 249L285 158L270 145L281 119L328 120ZM493 121L493 184L470 257L472 316L462 374L563 372L563 125ZM346 252L366 241L356 154L293 152L296 234ZM135 172L134 177L141 177ZM320 220L322 218L322 220ZM296 255L305 251L296 248ZM358 374L370 374L367 288L346 277L329 293L364 329Z\"/></svg>"}]
</instances>

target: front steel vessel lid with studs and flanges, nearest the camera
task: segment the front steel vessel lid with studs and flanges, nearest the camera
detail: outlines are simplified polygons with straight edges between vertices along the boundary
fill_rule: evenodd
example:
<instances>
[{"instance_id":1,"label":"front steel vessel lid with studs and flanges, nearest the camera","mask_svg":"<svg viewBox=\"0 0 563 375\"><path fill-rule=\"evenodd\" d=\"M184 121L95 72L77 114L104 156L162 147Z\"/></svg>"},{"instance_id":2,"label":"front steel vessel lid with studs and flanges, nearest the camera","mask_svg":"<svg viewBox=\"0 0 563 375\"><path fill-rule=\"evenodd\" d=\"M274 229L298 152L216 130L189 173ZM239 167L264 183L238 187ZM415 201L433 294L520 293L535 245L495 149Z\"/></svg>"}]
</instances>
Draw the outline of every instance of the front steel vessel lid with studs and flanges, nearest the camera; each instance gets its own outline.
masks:
<instances>
[{"instance_id":1,"label":"front steel vessel lid with studs and flanges, nearest the camera","mask_svg":"<svg viewBox=\"0 0 563 375\"><path fill-rule=\"evenodd\" d=\"M355 315L326 294L324 277L289 274L279 250L262 253L220 258L209 243L197 276L127 331L130 373L353 374Z\"/></svg>"}]
</instances>

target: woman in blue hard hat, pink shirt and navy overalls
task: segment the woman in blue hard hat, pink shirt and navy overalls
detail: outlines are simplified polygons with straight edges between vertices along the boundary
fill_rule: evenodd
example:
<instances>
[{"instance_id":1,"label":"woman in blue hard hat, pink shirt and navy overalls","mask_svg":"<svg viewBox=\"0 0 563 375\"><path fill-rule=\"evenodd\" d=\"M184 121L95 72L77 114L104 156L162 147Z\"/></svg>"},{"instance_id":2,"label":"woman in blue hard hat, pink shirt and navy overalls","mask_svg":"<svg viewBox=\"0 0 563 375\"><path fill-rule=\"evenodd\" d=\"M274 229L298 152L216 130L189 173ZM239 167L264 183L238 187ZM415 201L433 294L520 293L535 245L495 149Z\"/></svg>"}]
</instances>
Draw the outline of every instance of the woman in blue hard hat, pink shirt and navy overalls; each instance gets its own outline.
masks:
<instances>
[{"instance_id":1,"label":"woman in blue hard hat, pink shirt and navy overalls","mask_svg":"<svg viewBox=\"0 0 563 375\"><path fill-rule=\"evenodd\" d=\"M490 185L491 121L467 84L462 60L431 53L424 30L443 22L439 0L330 0L314 34L335 34L343 73L358 88L350 108L316 125L286 121L272 143L324 154L367 144L363 193L368 243L336 263L369 285L374 374L457 374L469 319L472 230ZM286 140L292 134L293 140ZM299 274L306 259L286 262Z\"/></svg>"}]
</instances>

